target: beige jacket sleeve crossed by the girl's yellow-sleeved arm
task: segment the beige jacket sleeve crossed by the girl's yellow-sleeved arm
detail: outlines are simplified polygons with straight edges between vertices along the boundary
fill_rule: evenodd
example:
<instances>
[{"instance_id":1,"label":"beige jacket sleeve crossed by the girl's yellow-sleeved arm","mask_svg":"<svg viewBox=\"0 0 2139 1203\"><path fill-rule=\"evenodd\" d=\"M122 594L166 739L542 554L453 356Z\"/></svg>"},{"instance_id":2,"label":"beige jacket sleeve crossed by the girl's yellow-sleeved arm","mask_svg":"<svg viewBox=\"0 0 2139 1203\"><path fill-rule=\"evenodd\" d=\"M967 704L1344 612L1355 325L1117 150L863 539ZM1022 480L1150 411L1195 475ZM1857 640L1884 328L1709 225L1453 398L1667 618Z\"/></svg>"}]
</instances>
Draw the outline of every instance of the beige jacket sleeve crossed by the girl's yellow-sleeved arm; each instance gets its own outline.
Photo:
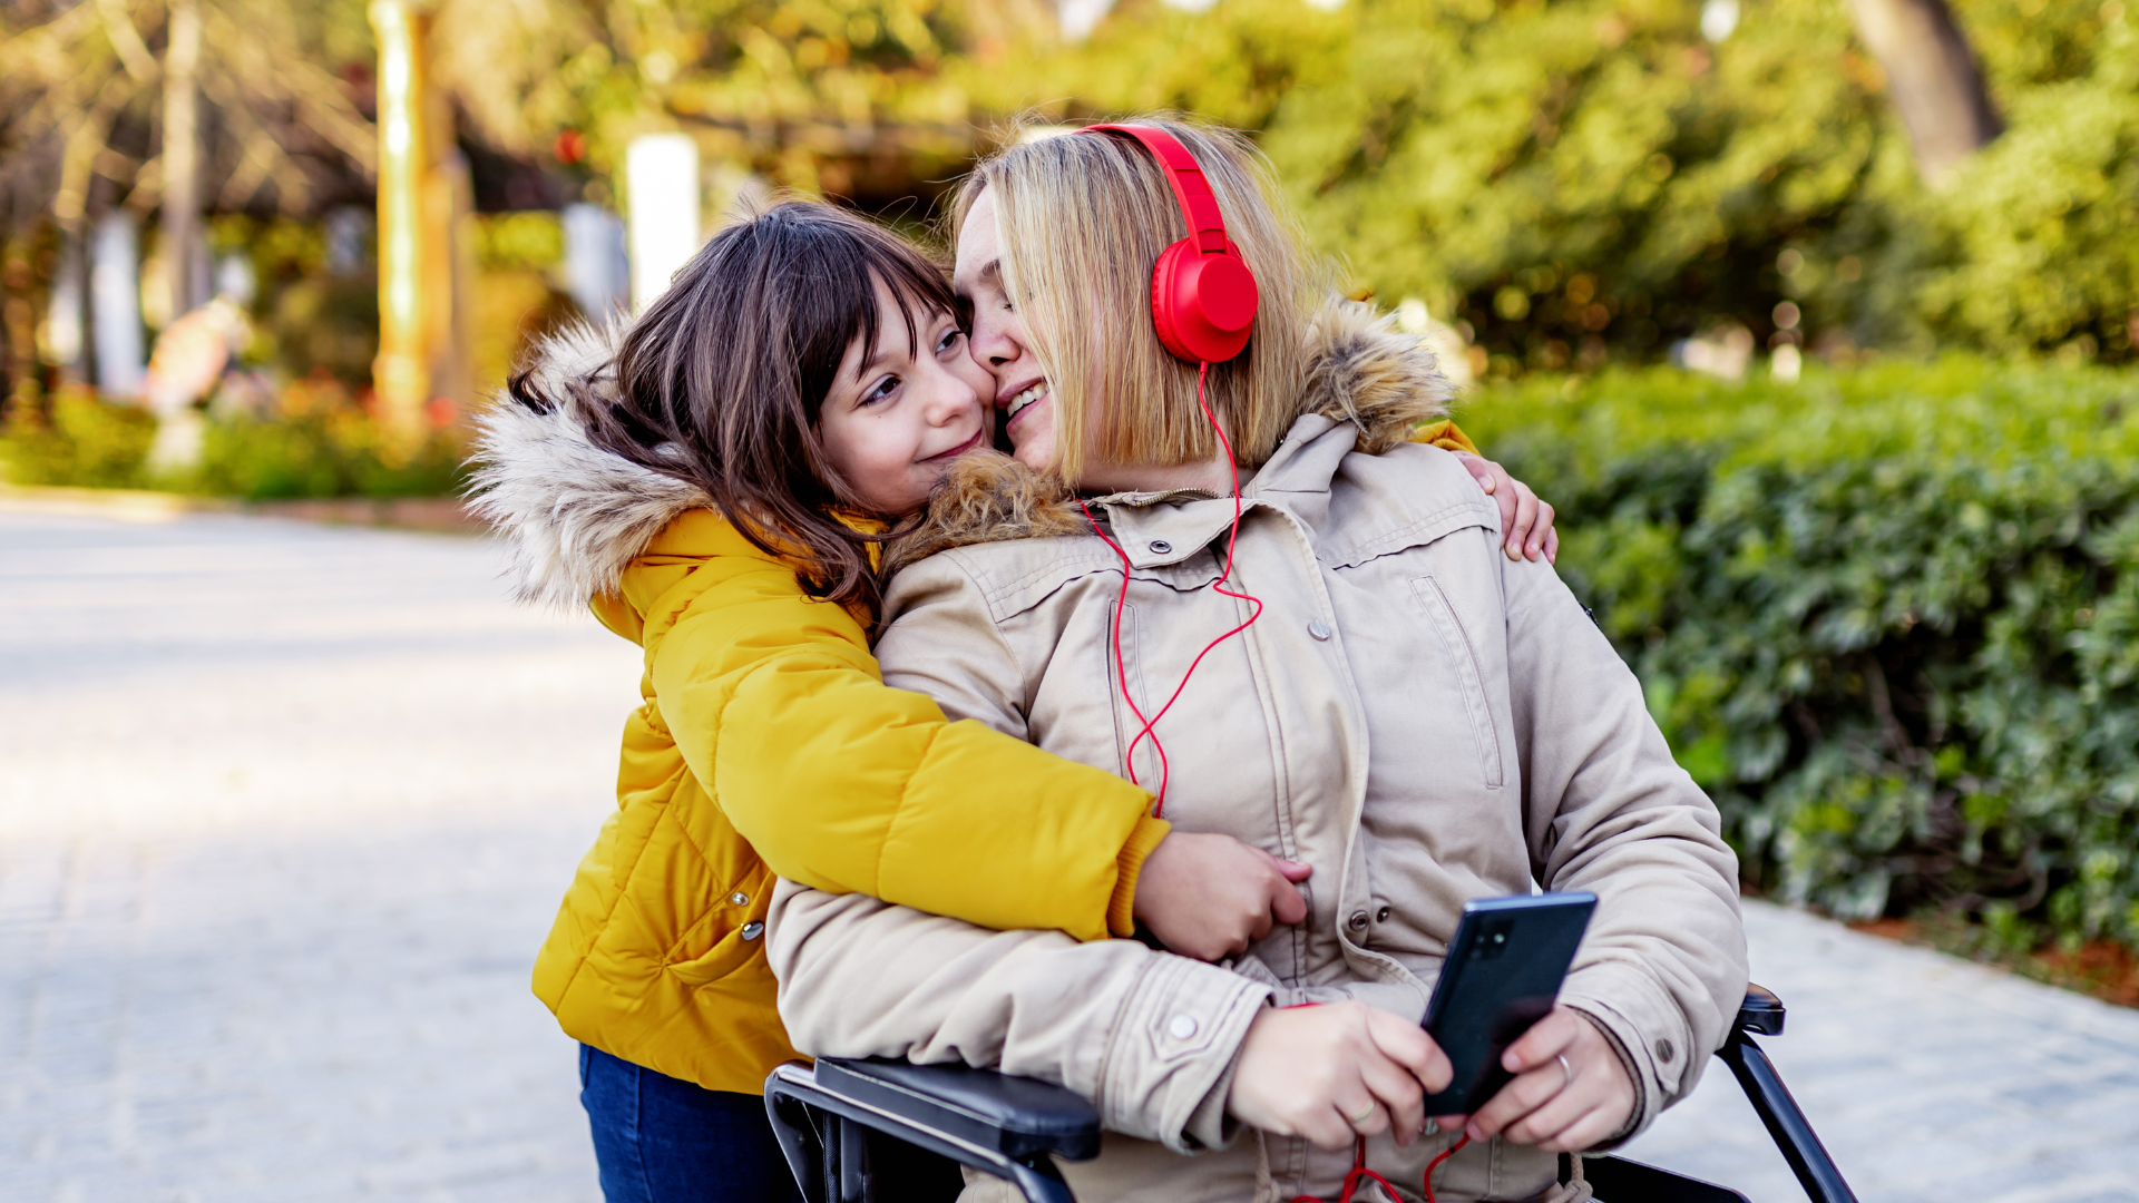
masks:
<instances>
[{"instance_id":1,"label":"beige jacket sleeve crossed by the girl's yellow-sleeved arm","mask_svg":"<svg viewBox=\"0 0 2139 1203\"><path fill-rule=\"evenodd\" d=\"M898 576L879 651L886 681L926 683L952 713L1020 734L1020 666L986 597L935 557ZM1025 803L1003 796L1025 813ZM1110 1130L1174 1149L1224 1141L1234 1053L1268 987L1134 940L984 931L860 895L783 882L766 957L781 1019L815 1055L965 1062L1061 1083Z\"/></svg>"}]
</instances>

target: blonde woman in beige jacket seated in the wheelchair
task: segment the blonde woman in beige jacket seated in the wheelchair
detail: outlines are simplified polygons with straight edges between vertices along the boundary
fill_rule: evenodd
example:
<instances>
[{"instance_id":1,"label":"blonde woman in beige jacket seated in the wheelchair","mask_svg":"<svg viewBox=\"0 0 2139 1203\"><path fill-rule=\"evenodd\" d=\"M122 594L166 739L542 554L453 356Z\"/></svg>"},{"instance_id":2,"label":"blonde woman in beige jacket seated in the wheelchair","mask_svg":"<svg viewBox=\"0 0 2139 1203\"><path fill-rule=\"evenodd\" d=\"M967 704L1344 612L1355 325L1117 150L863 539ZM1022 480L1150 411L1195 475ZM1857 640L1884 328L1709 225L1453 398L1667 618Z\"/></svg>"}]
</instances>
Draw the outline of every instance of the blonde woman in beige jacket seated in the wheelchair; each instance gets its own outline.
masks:
<instances>
[{"instance_id":1,"label":"blonde woman in beige jacket seated in the wheelchair","mask_svg":"<svg viewBox=\"0 0 2139 1203\"><path fill-rule=\"evenodd\" d=\"M811 1053L1078 1090L1112 1132L1063 1167L1087 1203L1330 1194L1356 1137L1397 1182L1474 1141L1444 1199L1538 1197L1555 1152L1636 1132L1726 1036L1735 856L1574 597L1497 554L1452 456L1405 441L1448 396L1431 355L1330 293L1253 150L1142 124L1194 152L1258 278L1247 351L1202 381L1153 334L1147 272L1185 225L1144 148L986 163L960 197L973 351L1018 460L1097 497L960 469L894 550L877 655L948 715L1159 783L1176 828L1311 865L1309 916L1221 968L783 882L781 1015ZM1416 1023L1459 910L1534 884L1600 899L1561 1004L1493 1100L1414 1141L1448 1077Z\"/></svg>"}]
</instances>

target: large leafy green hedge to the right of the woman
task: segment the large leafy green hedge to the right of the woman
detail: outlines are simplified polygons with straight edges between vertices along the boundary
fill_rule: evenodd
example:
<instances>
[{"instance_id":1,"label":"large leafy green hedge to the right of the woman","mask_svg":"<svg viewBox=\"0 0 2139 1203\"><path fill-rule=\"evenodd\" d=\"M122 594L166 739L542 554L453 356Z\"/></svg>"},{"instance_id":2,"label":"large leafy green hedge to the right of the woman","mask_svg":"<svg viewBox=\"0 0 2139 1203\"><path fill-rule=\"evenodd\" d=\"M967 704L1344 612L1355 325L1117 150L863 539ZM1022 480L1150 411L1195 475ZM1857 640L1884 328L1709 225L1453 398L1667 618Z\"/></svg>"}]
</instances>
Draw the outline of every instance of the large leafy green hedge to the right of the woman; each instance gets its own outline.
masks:
<instances>
[{"instance_id":1,"label":"large leafy green hedge to the right of the woman","mask_svg":"<svg viewBox=\"0 0 2139 1203\"><path fill-rule=\"evenodd\" d=\"M1748 880L2139 944L2139 377L1929 366L1484 392Z\"/></svg>"}]
</instances>

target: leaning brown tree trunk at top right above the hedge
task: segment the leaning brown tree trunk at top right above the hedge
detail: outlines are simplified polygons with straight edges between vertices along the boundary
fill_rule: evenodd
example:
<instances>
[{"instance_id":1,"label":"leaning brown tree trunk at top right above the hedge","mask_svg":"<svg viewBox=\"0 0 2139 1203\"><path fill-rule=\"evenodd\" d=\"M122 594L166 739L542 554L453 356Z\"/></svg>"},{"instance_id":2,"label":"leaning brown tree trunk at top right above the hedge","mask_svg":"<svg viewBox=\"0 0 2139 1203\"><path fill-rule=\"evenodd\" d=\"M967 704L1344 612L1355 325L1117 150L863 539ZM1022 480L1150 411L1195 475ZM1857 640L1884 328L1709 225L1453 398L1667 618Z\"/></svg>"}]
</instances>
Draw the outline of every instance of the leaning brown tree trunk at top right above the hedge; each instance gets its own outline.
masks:
<instances>
[{"instance_id":1,"label":"leaning brown tree trunk at top right above the hedge","mask_svg":"<svg viewBox=\"0 0 2139 1203\"><path fill-rule=\"evenodd\" d=\"M1940 184L2004 131L1944 0L1850 0L1850 13L1857 36L1887 71L1887 92L1925 182Z\"/></svg>"}]
</instances>

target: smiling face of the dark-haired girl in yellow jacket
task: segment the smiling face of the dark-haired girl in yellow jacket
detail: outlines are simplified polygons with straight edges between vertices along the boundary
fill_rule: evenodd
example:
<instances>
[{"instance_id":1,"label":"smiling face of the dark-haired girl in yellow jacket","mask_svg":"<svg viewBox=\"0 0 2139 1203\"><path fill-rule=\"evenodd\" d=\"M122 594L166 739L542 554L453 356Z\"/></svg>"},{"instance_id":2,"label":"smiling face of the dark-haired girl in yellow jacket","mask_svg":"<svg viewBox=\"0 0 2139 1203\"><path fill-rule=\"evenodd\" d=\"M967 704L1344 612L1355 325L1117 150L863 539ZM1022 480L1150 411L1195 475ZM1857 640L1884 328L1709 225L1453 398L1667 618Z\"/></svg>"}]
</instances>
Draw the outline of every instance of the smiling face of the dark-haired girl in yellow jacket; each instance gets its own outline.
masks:
<instances>
[{"instance_id":1,"label":"smiling face of the dark-haired girl in yellow jacket","mask_svg":"<svg viewBox=\"0 0 2139 1203\"><path fill-rule=\"evenodd\" d=\"M847 347L817 435L856 501L875 514L911 514L952 460L988 445L995 381L967 353L956 317L915 315L920 338L907 342L898 298L883 283L877 313L877 342Z\"/></svg>"}]
</instances>

